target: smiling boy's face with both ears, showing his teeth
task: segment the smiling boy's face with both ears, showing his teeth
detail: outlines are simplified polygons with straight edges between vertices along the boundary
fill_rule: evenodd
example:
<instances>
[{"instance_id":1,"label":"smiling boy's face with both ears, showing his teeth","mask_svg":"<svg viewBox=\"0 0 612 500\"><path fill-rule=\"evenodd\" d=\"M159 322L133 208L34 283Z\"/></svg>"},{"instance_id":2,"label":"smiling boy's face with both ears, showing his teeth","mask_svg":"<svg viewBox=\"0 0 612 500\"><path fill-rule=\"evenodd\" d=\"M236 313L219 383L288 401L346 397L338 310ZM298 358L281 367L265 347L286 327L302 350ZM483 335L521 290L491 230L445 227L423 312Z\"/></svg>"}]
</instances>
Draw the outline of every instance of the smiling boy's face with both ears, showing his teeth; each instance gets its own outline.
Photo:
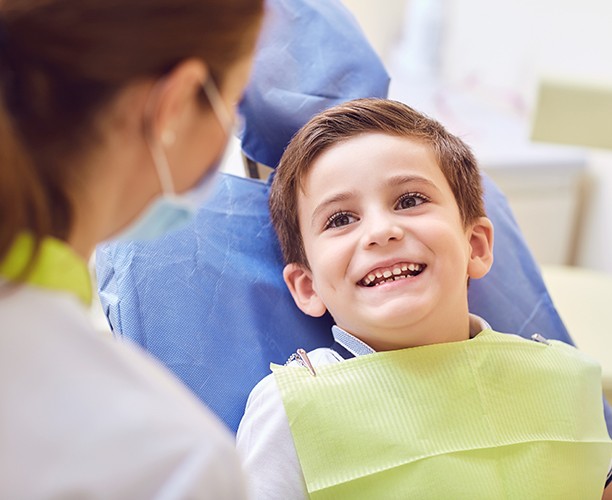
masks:
<instances>
[{"instance_id":1,"label":"smiling boy's face with both ears, showing his teeth","mask_svg":"<svg viewBox=\"0 0 612 500\"><path fill-rule=\"evenodd\" d=\"M376 350L464 340L468 277L492 263L486 218L465 228L434 153L415 140L364 134L326 150L299 193L310 270L284 277L298 306L328 309Z\"/></svg>"}]
</instances>

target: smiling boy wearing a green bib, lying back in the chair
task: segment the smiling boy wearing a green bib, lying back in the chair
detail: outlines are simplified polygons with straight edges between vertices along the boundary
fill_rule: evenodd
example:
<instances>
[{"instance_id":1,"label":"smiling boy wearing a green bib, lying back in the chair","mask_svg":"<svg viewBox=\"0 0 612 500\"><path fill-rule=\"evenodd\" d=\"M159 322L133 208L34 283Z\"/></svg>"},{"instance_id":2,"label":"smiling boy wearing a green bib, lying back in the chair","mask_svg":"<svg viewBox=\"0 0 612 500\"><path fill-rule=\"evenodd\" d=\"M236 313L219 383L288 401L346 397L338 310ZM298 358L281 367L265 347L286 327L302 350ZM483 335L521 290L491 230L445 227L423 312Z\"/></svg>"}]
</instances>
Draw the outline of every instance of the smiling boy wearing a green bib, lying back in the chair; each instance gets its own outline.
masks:
<instances>
[{"instance_id":1,"label":"smiling boy wearing a green bib, lying back in the chair","mask_svg":"<svg viewBox=\"0 0 612 500\"><path fill-rule=\"evenodd\" d=\"M601 497L610 440L598 367L469 313L493 227L460 139L397 102L336 106L292 139L270 208L295 303L336 325L331 348L276 367L249 397L237 443L255 498ZM535 389L512 395L533 377ZM588 472L563 455L534 474L561 452Z\"/></svg>"}]
</instances>

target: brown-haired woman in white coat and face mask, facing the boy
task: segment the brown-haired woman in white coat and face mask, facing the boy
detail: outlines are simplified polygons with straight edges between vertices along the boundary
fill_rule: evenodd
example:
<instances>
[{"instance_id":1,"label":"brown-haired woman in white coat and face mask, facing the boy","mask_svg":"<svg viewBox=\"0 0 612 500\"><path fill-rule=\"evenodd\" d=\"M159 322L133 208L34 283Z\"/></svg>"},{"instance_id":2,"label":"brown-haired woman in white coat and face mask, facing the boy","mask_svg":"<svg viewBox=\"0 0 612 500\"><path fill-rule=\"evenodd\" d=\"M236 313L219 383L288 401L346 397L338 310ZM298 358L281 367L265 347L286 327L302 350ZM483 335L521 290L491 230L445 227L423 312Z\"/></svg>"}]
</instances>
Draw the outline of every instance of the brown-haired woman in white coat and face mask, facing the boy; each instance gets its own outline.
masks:
<instances>
[{"instance_id":1,"label":"brown-haired woman in white coat and face mask, facing the boy","mask_svg":"<svg viewBox=\"0 0 612 500\"><path fill-rule=\"evenodd\" d=\"M87 260L188 218L179 194L214 173L262 13L0 1L0 497L243 496L223 426L88 324Z\"/></svg>"}]
</instances>

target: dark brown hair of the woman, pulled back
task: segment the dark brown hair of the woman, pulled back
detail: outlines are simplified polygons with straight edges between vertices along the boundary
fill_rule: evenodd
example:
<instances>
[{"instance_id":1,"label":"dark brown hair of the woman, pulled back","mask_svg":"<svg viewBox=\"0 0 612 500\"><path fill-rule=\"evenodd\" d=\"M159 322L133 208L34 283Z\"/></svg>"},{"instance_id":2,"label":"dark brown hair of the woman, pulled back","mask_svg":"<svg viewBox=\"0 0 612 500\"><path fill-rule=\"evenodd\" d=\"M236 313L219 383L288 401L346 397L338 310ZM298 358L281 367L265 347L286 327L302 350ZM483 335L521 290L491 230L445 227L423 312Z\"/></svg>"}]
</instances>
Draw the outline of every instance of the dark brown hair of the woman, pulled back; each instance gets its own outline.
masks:
<instances>
[{"instance_id":1,"label":"dark brown hair of the woman, pulled back","mask_svg":"<svg viewBox=\"0 0 612 500\"><path fill-rule=\"evenodd\" d=\"M66 239L67 161L101 137L98 112L187 58L226 72L256 42L263 0L0 0L0 262L27 231Z\"/></svg>"}]
</instances>

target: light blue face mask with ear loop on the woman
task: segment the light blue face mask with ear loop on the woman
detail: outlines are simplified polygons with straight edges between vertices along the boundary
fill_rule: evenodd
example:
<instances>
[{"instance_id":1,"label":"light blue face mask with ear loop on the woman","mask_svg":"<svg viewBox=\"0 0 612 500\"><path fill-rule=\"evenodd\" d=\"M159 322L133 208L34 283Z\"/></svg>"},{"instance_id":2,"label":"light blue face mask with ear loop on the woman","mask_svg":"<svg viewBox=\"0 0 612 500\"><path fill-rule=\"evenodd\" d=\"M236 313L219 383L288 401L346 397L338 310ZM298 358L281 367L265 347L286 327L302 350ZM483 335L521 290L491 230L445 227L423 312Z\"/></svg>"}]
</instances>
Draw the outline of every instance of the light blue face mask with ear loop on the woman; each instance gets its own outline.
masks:
<instances>
[{"instance_id":1,"label":"light blue face mask with ear loop on the woman","mask_svg":"<svg viewBox=\"0 0 612 500\"><path fill-rule=\"evenodd\" d=\"M232 130L230 114L212 78L203 84L203 88L213 112L226 133L227 146ZM153 200L128 227L114 236L113 241L152 240L187 225L193 220L198 207L211 191L223 159L222 153L196 186L179 195L174 190L172 174L164 150L159 144L153 143L150 144L150 149L162 186L162 194ZM225 151L225 147L223 150Z\"/></svg>"}]
</instances>

